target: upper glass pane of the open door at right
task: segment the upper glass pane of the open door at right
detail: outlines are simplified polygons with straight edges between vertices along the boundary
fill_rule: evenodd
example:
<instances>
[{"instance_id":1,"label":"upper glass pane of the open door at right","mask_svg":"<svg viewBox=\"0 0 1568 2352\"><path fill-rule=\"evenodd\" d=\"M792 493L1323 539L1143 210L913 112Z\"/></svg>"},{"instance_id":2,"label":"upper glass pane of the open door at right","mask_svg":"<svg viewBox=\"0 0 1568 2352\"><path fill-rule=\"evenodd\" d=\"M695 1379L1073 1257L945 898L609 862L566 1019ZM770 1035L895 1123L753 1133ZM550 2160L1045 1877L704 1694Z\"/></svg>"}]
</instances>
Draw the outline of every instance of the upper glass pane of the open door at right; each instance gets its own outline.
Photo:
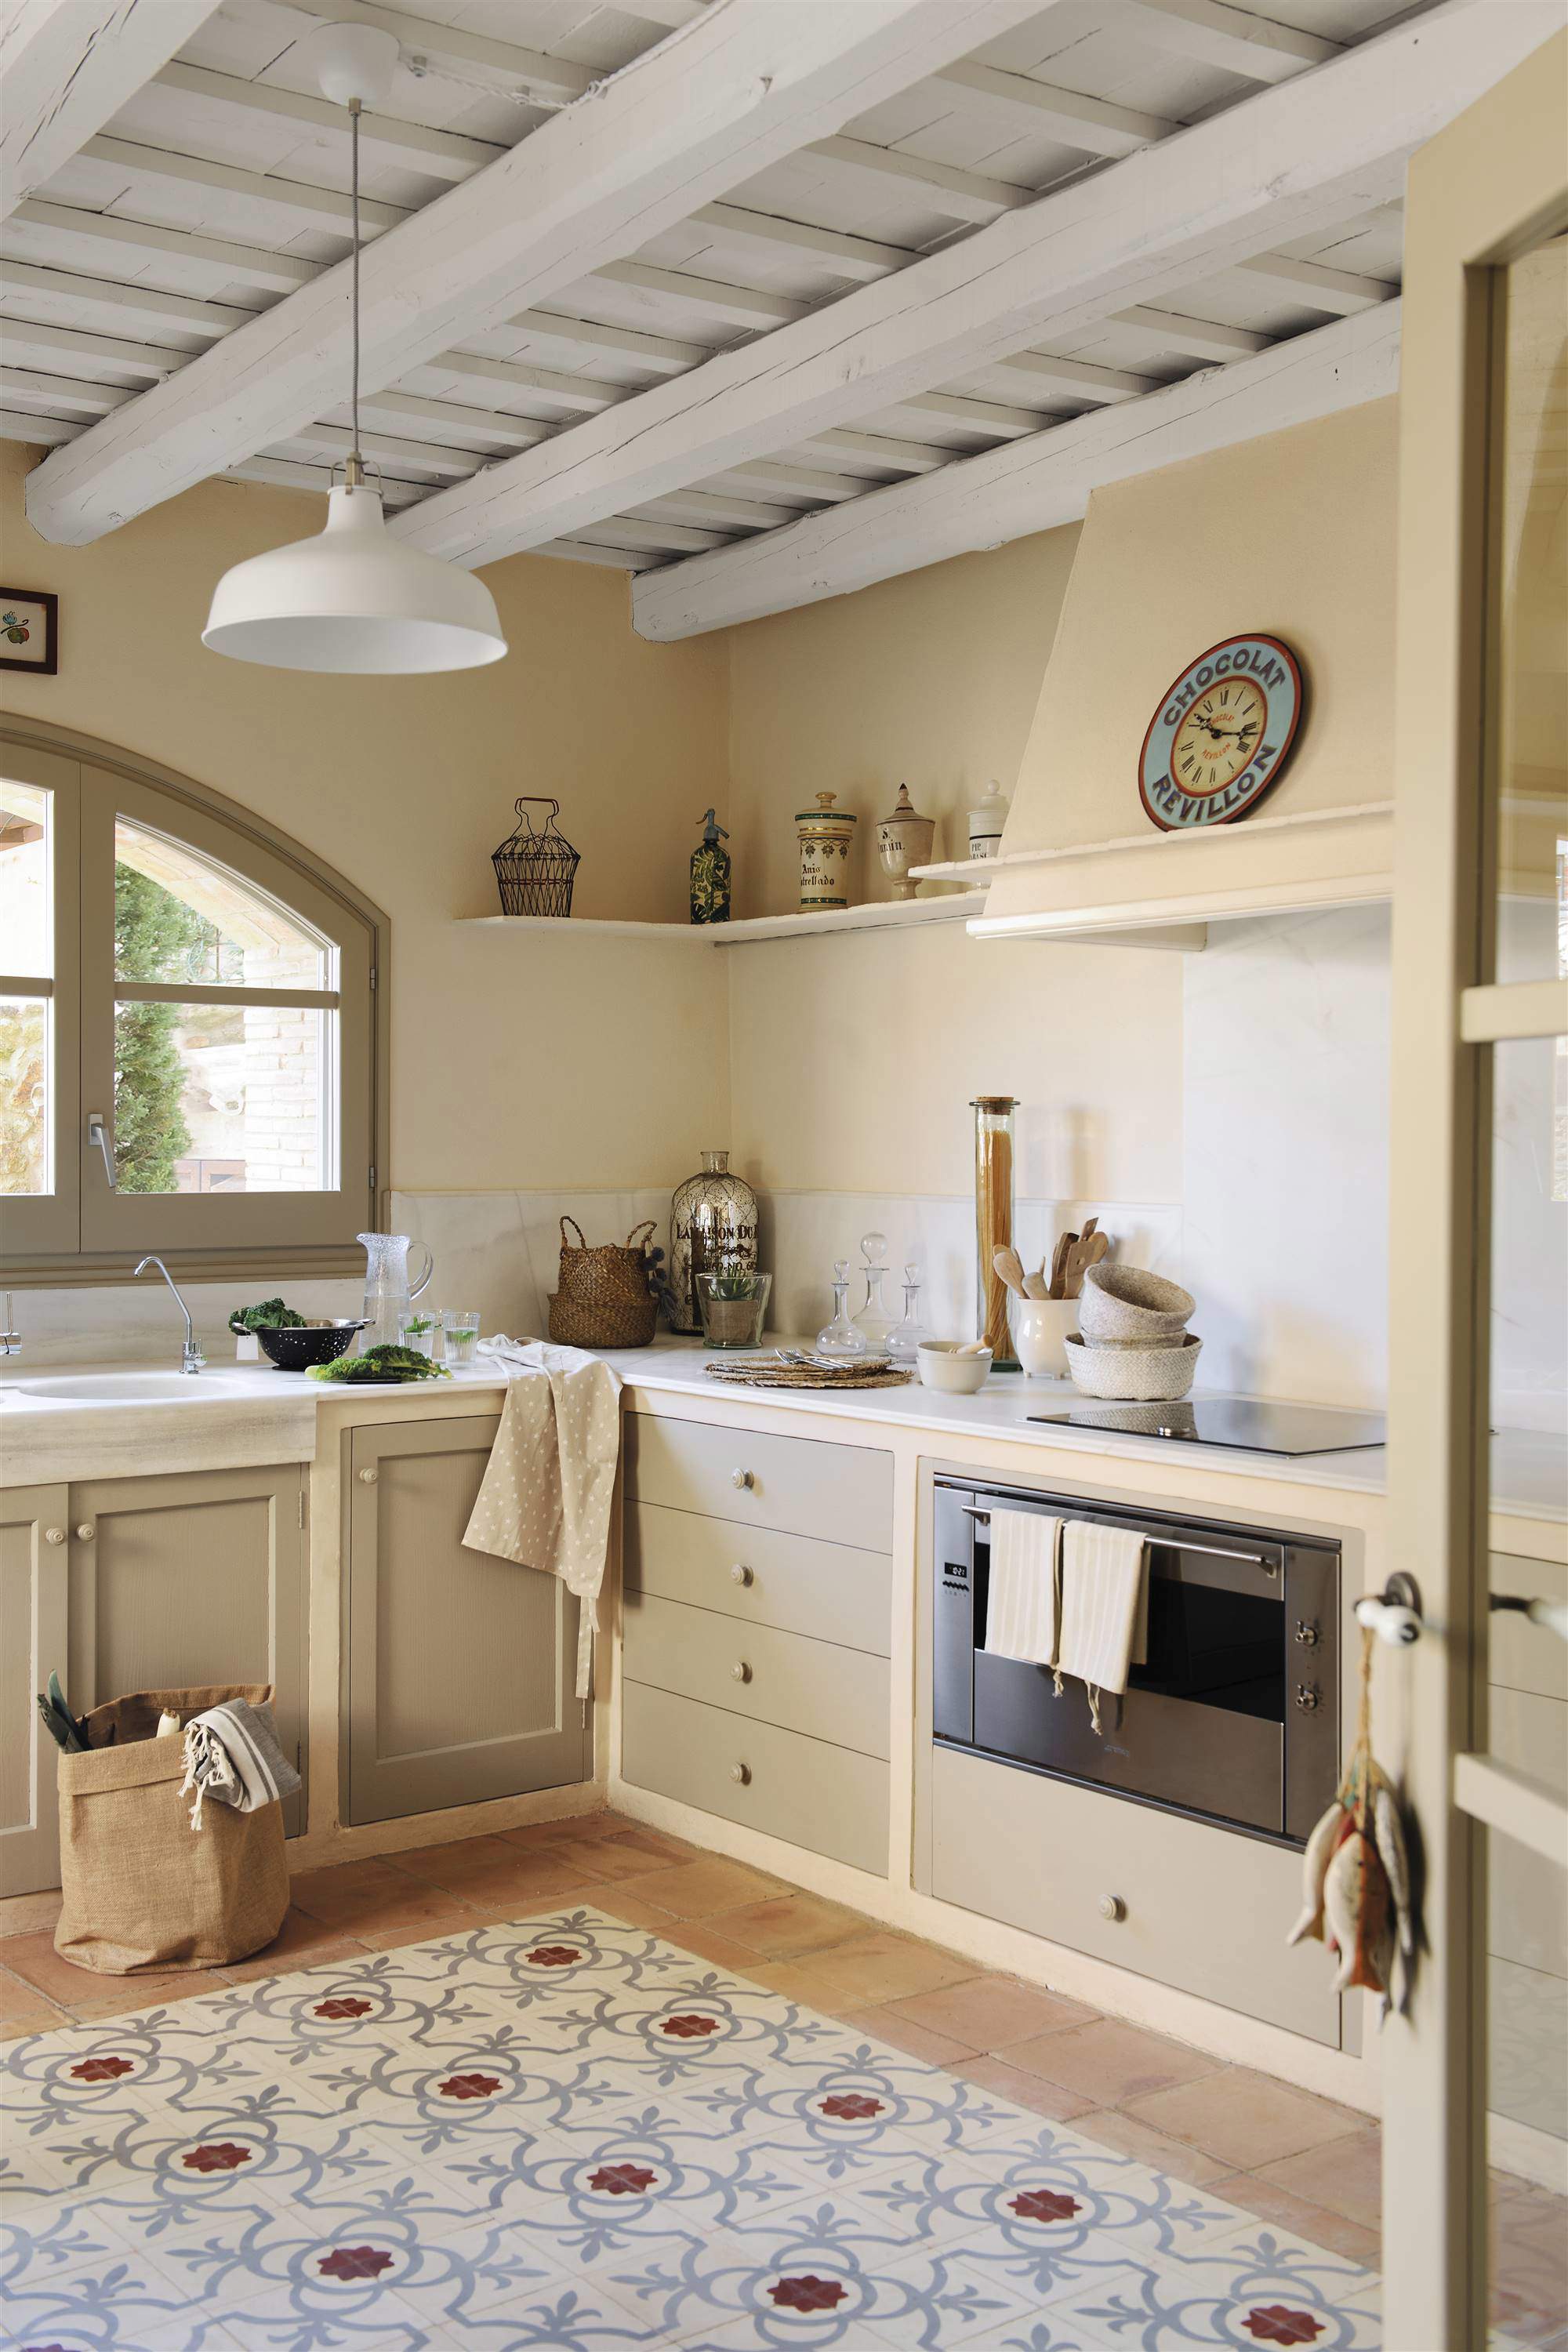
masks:
<instances>
[{"instance_id":1,"label":"upper glass pane of the open door at right","mask_svg":"<svg viewBox=\"0 0 1568 2352\"><path fill-rule=\"evenodd\" d=\"M1497 609L1497 978L1568 971L1568 238L1509 263Z\"/></svg>"}]
</instances>

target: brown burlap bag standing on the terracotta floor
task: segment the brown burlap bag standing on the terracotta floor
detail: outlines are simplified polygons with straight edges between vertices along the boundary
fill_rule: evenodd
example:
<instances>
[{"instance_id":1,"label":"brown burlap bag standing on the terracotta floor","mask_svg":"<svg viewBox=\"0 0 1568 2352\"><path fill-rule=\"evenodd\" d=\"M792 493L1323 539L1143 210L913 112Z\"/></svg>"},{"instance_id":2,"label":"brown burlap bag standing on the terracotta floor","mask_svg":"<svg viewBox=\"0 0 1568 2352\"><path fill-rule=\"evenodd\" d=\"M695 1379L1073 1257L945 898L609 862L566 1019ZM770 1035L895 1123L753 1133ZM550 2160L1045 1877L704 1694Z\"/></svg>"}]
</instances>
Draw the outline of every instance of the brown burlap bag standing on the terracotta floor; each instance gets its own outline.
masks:
<instances>
[{"instance_id":1,"label":"brown burlap bag standing on the terracotta floor","mask_svg":"<svg viewBox=\"0 0 1568 2352\"><path fill-rule=\"evenodd\" d=\"M186 1743L155 1738L167 1710L181 1719L247 1698L270 1682L200 1691L134 1691L87 1717L87 1755L59 1757L59 1875L66 1905L54 1950L78 1969L221 1969L270 1943L289 1907L282 1806L235 1813L209 1804L190 1828L181 1797Z\"/></svg>"}]
</instances>

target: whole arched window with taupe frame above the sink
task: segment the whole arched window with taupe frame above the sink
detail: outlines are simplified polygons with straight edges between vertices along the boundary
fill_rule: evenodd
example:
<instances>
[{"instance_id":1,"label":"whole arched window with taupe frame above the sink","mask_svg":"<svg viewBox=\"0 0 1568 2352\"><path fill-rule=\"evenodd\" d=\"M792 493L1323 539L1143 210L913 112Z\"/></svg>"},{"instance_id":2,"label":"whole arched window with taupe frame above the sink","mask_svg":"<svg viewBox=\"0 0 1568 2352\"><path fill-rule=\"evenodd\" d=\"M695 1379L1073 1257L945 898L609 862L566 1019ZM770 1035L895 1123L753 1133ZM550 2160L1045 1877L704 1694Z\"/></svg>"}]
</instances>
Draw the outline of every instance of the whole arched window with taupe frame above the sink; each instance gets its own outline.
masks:
<instances>
[{"instance_id":1,"label":"whole arched window with taupe frame above the sink","mask_svg":"<svg viewBox=\"0 0 1568 2352\"><path fill-rule=\"evenodd\" d=\"M0 724L0 1272L353 1265L383 967L383 917L216 793Z\"/></svg>"}]
</instances>

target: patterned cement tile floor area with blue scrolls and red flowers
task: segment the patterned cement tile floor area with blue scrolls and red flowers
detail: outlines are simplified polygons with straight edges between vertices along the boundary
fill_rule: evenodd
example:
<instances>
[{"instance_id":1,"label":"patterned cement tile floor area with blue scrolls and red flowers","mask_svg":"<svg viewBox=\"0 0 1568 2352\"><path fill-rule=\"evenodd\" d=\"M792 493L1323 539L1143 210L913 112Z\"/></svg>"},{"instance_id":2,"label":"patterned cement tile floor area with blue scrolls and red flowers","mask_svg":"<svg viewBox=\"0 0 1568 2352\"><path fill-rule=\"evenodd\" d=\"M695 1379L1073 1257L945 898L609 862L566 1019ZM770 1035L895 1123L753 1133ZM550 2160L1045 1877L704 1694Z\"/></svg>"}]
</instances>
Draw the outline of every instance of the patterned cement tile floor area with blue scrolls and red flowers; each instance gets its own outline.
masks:
<instances>
[{"instance_id":1,"label":"patterned cement tile floor area with blue scrolls and red flowers","mask_svg":"<svg viewBox=\"0 0 1568 2352\"><path fill-rule=\"evenodd\" d=\"M1352 2263L588 1905L40 2034L0 2098L16 2345L1378 2336Z\"/></svg>"}]
</instances>

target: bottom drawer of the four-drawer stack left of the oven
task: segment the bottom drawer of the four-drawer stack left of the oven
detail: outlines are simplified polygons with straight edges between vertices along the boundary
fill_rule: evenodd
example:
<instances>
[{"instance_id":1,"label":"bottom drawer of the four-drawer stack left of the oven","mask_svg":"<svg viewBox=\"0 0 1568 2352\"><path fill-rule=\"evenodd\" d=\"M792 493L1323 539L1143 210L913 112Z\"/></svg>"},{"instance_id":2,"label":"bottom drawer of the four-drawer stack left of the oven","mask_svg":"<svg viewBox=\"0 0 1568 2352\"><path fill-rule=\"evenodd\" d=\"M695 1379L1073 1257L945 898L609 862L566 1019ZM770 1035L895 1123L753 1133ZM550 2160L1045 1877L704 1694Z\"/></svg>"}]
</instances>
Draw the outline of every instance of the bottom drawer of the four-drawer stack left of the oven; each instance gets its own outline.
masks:
<instances>
[{"instance_id":1,"label":"bottom drawer of the four-drawer stack left of the oven","mask_svg":"<svg viewBox=\"0 0 1568 2352\"><path fill-rule=\"evenodd\" d=\"M875 1757L630 1679L621 1740L632 1788L886 1877L889 1773Z\"/></svg>"}]
</instances>

